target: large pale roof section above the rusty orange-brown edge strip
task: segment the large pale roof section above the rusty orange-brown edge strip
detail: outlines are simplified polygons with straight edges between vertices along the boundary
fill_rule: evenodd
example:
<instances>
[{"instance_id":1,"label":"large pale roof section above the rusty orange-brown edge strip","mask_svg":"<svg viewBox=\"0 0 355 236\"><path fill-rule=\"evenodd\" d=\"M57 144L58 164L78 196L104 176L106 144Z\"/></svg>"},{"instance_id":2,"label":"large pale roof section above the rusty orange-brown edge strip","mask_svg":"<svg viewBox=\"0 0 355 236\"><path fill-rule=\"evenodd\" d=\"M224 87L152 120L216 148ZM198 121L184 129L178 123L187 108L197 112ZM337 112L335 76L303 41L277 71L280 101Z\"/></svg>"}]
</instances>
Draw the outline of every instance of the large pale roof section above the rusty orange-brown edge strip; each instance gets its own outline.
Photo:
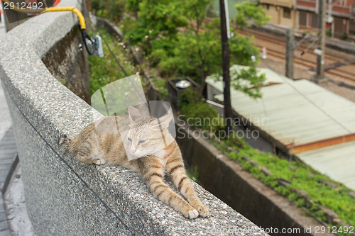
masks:
<instances>
[{"instance_id":1,"label":"large pale roof section above the rusty orange-brown edge strip","mask_svg":"<svg viewBox=\"0 0 355 236\"><path fill-rule=\"evenodd\" d=\"M222 89L222 82L212 77L207 84ZM252 99L231 88L231 106L285 146L355 133L355 103L306 79L264 86L261 93L262 99ZM223 101L222 94L215 98Z\"/></svg>"}]
</instances>

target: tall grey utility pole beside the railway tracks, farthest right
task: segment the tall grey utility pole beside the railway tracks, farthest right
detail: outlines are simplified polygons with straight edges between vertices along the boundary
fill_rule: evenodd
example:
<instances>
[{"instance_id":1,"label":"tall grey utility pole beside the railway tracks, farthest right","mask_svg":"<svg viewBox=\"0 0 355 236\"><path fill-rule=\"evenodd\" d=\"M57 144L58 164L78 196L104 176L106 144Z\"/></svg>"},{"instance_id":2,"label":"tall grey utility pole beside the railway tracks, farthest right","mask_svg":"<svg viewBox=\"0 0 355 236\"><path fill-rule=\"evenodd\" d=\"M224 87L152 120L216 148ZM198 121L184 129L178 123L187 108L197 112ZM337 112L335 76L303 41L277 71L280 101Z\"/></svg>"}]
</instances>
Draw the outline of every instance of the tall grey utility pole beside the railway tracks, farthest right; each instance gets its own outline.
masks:
<instances>
[{"instance_id":1,"label":"tall grey utility pole beside the railway tracks, farthest right","mask_svg":"<svg viewBox=\"0 0 355 236\"><path fill-rule=\"evenodd\" d=\"M315 81L321 82L324 78L324 55L325 55L325 11L326 1L318 0L318 38L320 43L317 50L317 74Z\"/></svg>"}]
</instances>

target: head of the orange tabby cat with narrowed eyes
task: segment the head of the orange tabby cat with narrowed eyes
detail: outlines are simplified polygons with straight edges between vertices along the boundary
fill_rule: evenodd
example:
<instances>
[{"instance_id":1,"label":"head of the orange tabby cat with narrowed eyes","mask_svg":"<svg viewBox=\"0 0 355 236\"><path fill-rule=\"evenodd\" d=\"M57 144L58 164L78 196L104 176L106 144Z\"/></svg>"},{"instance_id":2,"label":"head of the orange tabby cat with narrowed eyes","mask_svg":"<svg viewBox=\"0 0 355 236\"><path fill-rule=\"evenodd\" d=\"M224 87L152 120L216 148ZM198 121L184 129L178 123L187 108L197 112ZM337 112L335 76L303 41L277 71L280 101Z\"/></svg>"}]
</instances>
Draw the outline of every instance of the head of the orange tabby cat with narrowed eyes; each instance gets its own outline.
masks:
<instances>
[{"instance_id":1,"label":"head of the orange tabby cat with narrowed eyes","mask_svg":"<svg viewBox=\"0 0 355 236\"><path fill-rule=\"evenodd\" d=\"M139 158L163 150L172 142L168 132L172 118L172 113L159 119L143 117L136 108L129 107L130 128L124 137L126 151Z\"/></svg>"}]
</instances>

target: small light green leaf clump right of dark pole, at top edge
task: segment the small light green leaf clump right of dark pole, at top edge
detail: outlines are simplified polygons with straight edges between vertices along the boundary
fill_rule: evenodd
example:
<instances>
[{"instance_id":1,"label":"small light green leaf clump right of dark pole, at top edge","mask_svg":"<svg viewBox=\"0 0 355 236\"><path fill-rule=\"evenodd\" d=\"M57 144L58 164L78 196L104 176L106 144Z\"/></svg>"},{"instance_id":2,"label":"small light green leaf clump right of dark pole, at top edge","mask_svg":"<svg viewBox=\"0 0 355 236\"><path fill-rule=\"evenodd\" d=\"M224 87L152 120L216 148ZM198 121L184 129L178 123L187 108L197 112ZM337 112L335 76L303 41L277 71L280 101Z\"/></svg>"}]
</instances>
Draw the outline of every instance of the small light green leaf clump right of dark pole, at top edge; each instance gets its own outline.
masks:
<instances>
[{"instance_id":1,"label":"small light green leaf clump right of dark pole, at top edge","mask_svg":"<svg viewBox=\"0 0 355 236\"><path fill-rule=\"evenodd\" d=\"M256 23L260 27L271 19L270 16L266 16L266 11L263 7L258 6L256 2L244 1L242 4L236 4L234 7L238 11L236 14L236 24L241 30L244 27L251 27L249 21L253 21L253 23Z\"/></svg>"}]
</instances>

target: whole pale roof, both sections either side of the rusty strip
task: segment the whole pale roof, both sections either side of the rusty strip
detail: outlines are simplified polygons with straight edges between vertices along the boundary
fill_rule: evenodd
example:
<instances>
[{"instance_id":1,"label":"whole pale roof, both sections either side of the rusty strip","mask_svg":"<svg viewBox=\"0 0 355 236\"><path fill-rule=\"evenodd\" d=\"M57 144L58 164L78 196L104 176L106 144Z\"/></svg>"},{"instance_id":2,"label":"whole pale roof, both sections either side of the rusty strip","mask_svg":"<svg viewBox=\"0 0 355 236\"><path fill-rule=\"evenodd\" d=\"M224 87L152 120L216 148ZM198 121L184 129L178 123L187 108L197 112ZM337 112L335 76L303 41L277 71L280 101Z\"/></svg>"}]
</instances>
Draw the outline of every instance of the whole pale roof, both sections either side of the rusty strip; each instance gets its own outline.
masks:
<instances>
[{"instance_id":1,"label":"whole pale roof, both sections either side of the rusty strip","mask_svg":"<svg viewBox=\"0 0 355 236\"><path fill-rule=\"evenodd\" d=\"M279 84L261 87L262 99L252 99L231 88L231 106L253 125L286 147L310 145L355 133L355 103L301 79L282 77L269 69L268 81ZM271 77L271 78L268 78ZM207 84L221 91L214 96L223 101L222 81L207 77ZM266 120L268 122L266 122ZM355 189L355 141L297 154L300 159L332 179Z\"/></svg>"}]
</instances>

